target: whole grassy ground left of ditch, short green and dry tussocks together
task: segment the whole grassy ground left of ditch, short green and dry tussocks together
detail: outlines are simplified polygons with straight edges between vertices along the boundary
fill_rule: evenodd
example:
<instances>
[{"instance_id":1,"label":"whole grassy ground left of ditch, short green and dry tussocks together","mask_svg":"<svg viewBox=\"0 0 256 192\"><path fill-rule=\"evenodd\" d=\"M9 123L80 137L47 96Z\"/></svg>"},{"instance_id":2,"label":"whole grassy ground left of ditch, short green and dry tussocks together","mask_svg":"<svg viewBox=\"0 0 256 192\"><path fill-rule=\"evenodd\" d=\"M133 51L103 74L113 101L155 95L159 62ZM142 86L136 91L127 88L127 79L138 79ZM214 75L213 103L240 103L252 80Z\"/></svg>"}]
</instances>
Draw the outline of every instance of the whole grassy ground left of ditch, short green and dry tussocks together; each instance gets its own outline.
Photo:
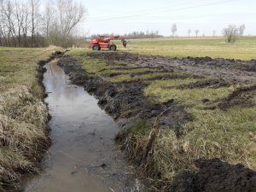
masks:
<instances>
[{"instance_id":1,"label":"whole grassy ground left of ditch, short green and dry tussocks together","mask_svg":"<svg viewBox=\"0 0 256 192\"><path fill-rule=\"evenodd\" d=\"M18 182L20 172L36 172L49 145L37 63L54 51L0 47L0 191L2 184Z\"/></svg>"}]
</instances>

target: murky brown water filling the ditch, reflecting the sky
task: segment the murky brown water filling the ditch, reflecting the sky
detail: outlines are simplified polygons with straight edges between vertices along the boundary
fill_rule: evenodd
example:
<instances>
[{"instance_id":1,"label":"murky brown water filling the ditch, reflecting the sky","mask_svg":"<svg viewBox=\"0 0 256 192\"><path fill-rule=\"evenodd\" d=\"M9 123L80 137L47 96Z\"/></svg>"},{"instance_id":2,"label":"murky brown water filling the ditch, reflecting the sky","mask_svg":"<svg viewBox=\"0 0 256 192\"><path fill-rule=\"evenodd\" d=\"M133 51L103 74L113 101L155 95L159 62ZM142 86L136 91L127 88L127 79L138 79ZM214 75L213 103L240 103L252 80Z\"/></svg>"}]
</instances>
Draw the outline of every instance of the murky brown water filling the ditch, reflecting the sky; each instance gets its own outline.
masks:
<instances>
[{"instance_id":1,"label":"murky brown water filling the ditch, reflecting the sky","mask_svg":"<svg viewBox=\"0 0 256 192\"><path fill-rule=\"evenodd\" d=\"M119 127L83 88L70 84L54 62L46 66L44 85L49 96L52 146L44 172L32 177L26 192L142 191L131 178L113 142Z\"/></svg>"}]
</instances>

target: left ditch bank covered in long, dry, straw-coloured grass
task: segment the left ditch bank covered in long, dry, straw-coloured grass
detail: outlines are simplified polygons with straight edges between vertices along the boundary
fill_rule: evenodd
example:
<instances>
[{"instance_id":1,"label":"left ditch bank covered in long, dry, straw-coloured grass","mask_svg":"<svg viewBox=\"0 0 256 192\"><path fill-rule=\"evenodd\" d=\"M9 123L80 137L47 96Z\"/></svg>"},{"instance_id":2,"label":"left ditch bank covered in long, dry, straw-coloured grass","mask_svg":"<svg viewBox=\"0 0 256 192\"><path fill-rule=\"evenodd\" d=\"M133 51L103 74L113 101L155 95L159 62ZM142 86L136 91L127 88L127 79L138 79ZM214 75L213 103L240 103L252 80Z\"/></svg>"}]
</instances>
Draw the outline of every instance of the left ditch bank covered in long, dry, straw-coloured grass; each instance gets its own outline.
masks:
<instances>
[{"instance_id":1,"label":"left ditch bank covered in long, dry, straw-coloured grass","mask_svg":"<svg viewBox=\"0 0 256 192\"><path fill-rule=\"evenodd\" d=\"M41 160L50 146L50 119L44 98L44 65L60 57L63 53L55 52L46 61L38 61L36 79L38 84L32 87L20 85L0 97L0 127L2 129L0 191L19 191L21 180L27 173L38 173ZM42 90L41 90L42 89ZM4 155L4 157L2 157ZM6 160L8 159L8 160ZM20 180L21 179L21 180Z\"/></svg>"}]
</instances>

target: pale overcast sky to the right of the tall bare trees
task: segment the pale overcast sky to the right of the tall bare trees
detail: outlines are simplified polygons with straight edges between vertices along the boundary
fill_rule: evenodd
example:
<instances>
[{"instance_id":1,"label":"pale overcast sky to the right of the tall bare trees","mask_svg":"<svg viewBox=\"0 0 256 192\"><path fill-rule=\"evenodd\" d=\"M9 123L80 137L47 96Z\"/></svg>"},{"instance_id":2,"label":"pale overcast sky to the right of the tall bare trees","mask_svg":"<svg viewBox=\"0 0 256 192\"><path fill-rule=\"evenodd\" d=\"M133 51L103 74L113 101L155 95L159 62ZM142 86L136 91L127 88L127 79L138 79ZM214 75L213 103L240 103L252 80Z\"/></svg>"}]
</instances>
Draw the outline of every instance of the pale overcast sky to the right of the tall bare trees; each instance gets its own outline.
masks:
<instances>
[{"instance_id":1,"label":"pale overcast sky to the right of the tall bare trees","mask_svg":"<svg viewBox=\"0 0 256 192\"><path fill-rule=\"evenodd\" d=\"M79 0L77 0L79 1ZM171 35L173 23L177 35L187 36L188 29L195 35L212 35L229 25L245 24L246 34L256 35L256 0L87 0L81 1L88 15L80 32L90 34L158 30Z\"/></svg>"}]
</instances>

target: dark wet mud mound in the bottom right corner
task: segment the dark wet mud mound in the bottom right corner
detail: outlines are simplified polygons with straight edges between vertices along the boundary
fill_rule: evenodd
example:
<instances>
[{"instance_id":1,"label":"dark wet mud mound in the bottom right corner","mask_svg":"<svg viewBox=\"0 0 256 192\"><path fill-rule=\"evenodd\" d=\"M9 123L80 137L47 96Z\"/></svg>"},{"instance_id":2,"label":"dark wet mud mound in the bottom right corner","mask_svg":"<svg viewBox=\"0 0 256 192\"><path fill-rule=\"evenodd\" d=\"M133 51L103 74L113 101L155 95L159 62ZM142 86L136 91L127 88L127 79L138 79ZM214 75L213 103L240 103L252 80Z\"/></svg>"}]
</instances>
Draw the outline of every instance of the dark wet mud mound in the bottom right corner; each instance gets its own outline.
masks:
<instances>
[{"instance_id":1,"label":"dark wet mud mound in the bottom right corner","mask_svg":"<svg viewBox=\"0 0 256 192\"><path fill-rule=\"evenodd\" d=\"M256 172L218 159L197 160L196 173L181 173L166 192L254 192Z\"/></svg>"}]
</instances>

